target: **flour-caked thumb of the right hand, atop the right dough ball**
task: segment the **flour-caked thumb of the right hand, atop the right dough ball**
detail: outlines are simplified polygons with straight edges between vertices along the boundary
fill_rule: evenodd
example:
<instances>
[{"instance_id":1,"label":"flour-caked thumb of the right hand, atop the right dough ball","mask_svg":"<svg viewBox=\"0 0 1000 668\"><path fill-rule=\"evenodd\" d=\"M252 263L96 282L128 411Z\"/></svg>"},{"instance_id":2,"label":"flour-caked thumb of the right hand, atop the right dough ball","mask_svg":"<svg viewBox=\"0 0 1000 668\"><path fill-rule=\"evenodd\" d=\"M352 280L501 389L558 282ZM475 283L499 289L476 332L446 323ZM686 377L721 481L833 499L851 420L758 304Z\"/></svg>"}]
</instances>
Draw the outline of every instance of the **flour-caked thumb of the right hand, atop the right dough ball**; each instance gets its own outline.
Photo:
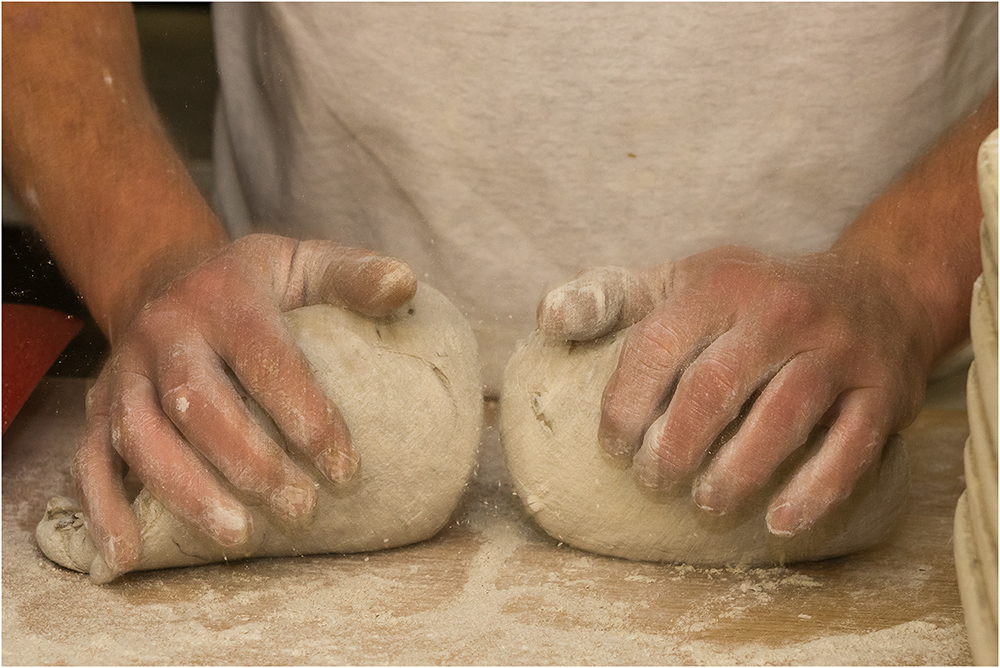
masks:
<instances>
[{"instance_id":1,"label":"flour-caked thumb of the right hand, atop the right dough ball","mask_svg":"<svg viewBox=\"0 0 1000 668\"><path fill-rule=\"evenodd\" d=\"M673 264L636 271L597 267L556 288L538 305L538 328L567 341L589 341L633 325L670 291Z\"/></svg>"}]
</instances>

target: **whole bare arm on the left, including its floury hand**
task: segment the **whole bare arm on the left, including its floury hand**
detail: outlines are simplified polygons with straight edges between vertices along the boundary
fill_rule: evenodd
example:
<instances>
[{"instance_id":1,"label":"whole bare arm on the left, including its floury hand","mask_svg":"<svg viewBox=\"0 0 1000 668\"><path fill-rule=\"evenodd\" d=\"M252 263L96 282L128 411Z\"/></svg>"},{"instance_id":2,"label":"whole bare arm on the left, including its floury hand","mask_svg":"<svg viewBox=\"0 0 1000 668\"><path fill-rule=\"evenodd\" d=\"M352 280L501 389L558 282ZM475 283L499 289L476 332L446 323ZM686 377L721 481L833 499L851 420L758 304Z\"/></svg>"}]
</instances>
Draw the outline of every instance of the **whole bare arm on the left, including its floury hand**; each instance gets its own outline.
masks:
<instances>
[{"instance_id":1,"label":"whole bare arm on the left, including its floury hand","mask_svg":"<svg viewBox=\"0 0 1000 668\"><path fill-rule=\"evenodd\" d=\"M102 581L142 548L125 464L223 545L252 532L238 492L308 521L313 475L250 417L227 372L289 447L343 482L359 465L347 425L282 312L327 302L384 315L416 290L405 263L333 242L229 242L146 94L130 12L3 10L4 177L111 342L75 462Z\"/></svg>"}]
</instances>

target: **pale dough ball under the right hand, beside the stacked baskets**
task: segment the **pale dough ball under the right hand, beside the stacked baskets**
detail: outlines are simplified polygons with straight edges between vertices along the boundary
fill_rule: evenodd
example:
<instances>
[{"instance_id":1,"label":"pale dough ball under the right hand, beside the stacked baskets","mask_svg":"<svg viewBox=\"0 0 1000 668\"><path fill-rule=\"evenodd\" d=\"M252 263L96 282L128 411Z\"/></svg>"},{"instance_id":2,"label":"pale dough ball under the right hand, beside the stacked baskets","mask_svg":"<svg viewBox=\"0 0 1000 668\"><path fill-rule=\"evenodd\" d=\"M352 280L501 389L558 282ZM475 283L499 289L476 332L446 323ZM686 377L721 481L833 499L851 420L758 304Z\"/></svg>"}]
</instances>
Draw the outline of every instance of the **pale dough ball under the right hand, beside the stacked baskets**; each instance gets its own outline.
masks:
<instances>
[{"instance_id":1,"label":"pale dough ball under the right hand, beside the stacked baskets","mask_svg":"<svg viewBox=\"0 0 1000 668\"><path fill-rule=\"evenodd\" d=\"M854 552L878 542L900 519L909 466L898 436L889 439L851 498L793 538L768 532L767 503L790 467L822 443L822 431L766 489L724 517L699 510L689 485L672 492L643 486L627 462L605 456L597 442L601 394L625 331L576 344L536 331L519 344L504 373L500 428L507 464L518 495L548 534L628 559L750 566Z\"/></svg>"}]
</instances>

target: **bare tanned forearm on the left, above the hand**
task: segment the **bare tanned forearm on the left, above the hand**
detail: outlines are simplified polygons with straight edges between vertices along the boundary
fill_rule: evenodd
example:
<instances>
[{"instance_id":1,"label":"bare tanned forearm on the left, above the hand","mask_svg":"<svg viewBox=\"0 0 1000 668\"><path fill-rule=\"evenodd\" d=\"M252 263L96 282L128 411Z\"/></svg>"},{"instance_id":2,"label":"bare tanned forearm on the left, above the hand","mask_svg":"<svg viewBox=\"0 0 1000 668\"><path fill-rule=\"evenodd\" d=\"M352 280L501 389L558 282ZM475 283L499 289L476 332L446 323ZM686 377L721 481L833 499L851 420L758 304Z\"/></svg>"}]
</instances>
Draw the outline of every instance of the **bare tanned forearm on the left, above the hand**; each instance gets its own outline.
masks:
<instances>
[{"instance_id":1,"label":"bare tanned forearm on the left, above the hand","mask_svg":"<svg viewBox=\"0 0 1000 668\"><path fill-rule=\"evenodd\" d=\"M129 5L6 5L3 68L4 178L113 341L150 267L225 233L146 94Z\"/></svg>"}]
</instances>

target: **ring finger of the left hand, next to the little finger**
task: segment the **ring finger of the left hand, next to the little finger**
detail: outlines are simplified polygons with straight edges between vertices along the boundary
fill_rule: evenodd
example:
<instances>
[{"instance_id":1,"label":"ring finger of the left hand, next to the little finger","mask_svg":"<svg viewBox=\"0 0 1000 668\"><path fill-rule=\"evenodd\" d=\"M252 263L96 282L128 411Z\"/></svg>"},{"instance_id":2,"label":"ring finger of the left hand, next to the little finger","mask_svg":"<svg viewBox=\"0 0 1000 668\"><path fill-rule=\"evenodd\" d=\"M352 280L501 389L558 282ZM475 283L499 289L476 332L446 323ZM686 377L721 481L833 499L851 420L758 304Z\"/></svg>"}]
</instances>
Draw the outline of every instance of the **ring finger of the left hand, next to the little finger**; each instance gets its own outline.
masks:
<instances>
[{"instance_id":1,"label":"ring finger of the left hand, next to the little finger","mask_svg":"<svg viewBox=\"0 0 1000 668\"><path fill-rule=\"evenodd\" d=\"M111 405L111 444L173 514L223 546L249 539L250 513L180 437L144 376L119 376Z\"/></svg>"}]
</instances>

